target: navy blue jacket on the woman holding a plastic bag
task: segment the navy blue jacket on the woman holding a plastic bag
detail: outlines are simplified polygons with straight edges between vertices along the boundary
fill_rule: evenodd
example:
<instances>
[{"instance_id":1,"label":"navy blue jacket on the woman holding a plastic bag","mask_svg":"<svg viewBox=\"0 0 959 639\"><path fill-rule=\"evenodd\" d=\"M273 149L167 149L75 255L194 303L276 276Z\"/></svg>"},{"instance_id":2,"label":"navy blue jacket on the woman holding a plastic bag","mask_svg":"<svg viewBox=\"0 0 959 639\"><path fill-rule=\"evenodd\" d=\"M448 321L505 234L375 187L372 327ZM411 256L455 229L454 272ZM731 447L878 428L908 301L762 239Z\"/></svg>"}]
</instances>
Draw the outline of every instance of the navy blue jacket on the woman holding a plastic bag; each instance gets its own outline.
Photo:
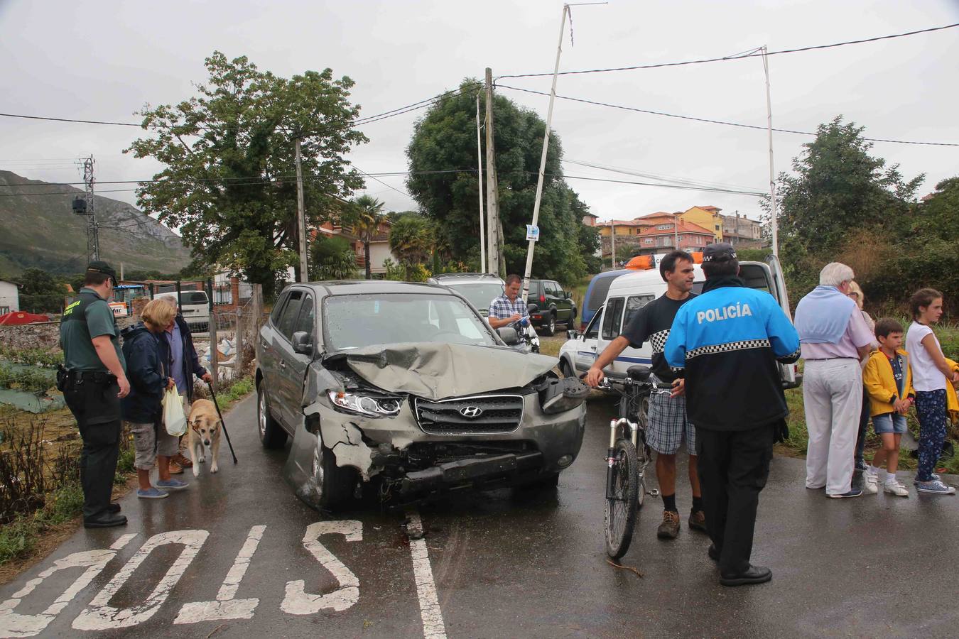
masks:
<instances>
[{"instance_id":1,"label":"navy blue jacket on the woman holding a plastic bag","mask_svg":"<svg viewBox=\"0 0 959 639\"><path fill-rule=\"evenodd\" d=\"M160 401L170 377L170 349L166 340L143 322L120 334L129 379L129 395L120 400L121 416L127 422L156 422L163 412Z\"/></svg>"}]
</instances>

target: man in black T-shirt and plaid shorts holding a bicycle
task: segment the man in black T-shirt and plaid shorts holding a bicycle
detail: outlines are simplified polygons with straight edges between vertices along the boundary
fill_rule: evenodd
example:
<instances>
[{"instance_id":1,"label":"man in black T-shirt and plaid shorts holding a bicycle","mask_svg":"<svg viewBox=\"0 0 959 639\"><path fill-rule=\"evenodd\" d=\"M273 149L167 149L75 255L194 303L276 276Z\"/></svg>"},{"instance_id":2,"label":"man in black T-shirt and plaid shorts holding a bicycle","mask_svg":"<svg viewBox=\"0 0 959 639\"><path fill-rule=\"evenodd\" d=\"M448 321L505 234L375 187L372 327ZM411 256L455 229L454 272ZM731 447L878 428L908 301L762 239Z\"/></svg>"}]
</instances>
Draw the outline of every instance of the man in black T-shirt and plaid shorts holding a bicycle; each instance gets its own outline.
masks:
<instances>
[{"instance_id":1,"label":"man in black T-shirt and plaid shorts holding a bicycle","mask_svg":"<svg viewBox=\"0 0 959 639\"><path fill-rule=\"evenodd\" d=\"M675 391L652 393L649 397L649 419L646 425L646 444L656 451L656 479L663 495L663 523L656 530L661 539L679 536L679 510L676 508L676 452L683 438L690 453L690 488L692 509L691 529L706 532L706 515L703 512L699 491L699 475L696 468L695 429L686 418L686 399L677 395L683 380L677 379L670 370L663 347L669 336L669 328L676 312L689 302L692 291L692 256L686 251L672 251L660 262L660 276L667 284L667 291L636 311L629 325L619 337L610 342L590 368L586 383L596 388L603 380L602 370L609 366L627 346L638 349L643 342L652 346L652 372L661 381L673 383Z\"/></svg>"}]
</instances>

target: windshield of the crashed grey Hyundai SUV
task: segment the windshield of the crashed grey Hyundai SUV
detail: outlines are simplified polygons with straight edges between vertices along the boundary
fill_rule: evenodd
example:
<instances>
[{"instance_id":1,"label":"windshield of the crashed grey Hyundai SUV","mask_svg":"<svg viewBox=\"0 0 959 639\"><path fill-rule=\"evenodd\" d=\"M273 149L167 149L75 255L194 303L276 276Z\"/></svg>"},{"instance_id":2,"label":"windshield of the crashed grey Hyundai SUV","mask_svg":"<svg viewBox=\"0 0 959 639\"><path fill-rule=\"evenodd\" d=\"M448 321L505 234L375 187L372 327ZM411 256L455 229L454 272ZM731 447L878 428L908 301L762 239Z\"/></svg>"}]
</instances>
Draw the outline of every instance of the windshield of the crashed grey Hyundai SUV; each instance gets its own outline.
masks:
<instances>
[{"instance_id":1,"label":"windshield of the crashed grey Hyundai SUV","mask_svg":"<svg viewBox=\"0 0 959 639\"><path fill-rule=\"evenodd\" d=\"M446 295L330 297L323 305L323 326L333 351L403 342L496 345L476 313Z\"/></svg>"}]
</instances>

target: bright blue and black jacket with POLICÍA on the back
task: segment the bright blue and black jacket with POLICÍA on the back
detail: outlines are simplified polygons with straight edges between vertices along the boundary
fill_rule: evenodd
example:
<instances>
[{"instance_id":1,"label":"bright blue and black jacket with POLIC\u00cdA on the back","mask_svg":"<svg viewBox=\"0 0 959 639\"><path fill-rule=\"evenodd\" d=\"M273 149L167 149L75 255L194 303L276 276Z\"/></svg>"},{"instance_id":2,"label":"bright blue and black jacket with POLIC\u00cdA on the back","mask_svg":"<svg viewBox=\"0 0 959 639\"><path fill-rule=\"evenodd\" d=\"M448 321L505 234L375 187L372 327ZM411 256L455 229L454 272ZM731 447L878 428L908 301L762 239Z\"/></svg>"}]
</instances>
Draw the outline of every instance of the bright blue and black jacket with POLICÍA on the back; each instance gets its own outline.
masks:
<instances>
[{"instance_id":1,"label":"bright blue and black jacket with POLIC\u00cdA on the back","mask_svg":"<svg viewBox=\"0 0 959 639\"><path fill-rule=\"evenodd\" d=\"M748 430L789 411L777 359L799 358L799 335L772 295L738 278L707 280L676 313L665 352L686 377L686 412L710 430Z\"/></svg>"}]
</instances>

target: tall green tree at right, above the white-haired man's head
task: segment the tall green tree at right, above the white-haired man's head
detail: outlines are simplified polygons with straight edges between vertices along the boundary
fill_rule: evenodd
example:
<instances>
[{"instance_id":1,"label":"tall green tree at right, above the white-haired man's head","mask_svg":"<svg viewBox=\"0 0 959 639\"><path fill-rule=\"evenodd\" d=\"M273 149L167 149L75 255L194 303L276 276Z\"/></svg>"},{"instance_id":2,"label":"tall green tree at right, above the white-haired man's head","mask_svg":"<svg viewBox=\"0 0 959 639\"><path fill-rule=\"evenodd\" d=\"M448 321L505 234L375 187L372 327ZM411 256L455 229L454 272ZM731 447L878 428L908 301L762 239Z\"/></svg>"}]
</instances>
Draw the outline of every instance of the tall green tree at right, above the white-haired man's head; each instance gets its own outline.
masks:
<instances>
[{"instance_id":1,"label":"tall green tree at right, above the white-haired man's head","mask_svg":"<svg viewBox=\"0 0 959 639\"><path fill-rule=\"evenodd\" d=\"M816 139L793 159L795 174L780 174L781 258L794 296L815 285L819 269L844 252L857 252L863 263L881 254L882 240L908 217L924 179L904 180L899 165L887 169L885 160L869 154L873 145L862 131L837 116L820 125Z\"/></svg>"}]
</instances>

